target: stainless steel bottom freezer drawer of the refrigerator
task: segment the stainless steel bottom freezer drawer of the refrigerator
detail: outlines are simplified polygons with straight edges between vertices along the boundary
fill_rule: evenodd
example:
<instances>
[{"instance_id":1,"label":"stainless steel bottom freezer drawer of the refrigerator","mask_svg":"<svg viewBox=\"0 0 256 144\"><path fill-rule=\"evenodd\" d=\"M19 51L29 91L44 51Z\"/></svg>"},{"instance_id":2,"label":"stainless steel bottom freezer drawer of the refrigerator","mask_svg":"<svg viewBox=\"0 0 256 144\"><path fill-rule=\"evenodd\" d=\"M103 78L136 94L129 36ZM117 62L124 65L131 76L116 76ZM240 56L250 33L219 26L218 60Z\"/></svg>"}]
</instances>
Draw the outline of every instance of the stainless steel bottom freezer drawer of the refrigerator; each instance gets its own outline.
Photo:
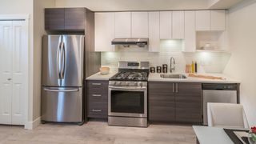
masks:
<instances>
[{"instance_id":1,"label":"stainless steel bottom freezer drawer of the refrigerator","mask_svg":"<svg viewBox=\"0 0 256 144\"><path fill-rule=\"evenodd\" d=\"M82 122L82 87L42 87L42 121Z\"/></svg>"}]
</instances>

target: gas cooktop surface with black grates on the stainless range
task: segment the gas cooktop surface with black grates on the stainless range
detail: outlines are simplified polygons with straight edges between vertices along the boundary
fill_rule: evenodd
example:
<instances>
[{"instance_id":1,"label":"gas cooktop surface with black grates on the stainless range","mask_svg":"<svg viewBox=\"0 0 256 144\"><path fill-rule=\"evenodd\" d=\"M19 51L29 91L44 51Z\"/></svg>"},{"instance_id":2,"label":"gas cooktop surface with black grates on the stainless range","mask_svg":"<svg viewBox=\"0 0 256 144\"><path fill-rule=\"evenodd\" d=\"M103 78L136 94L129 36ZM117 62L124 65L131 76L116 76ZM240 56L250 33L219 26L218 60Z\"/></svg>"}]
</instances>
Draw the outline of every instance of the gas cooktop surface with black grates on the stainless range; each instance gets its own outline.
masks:
<instances>
[{"instance_id":1,"label":"gas cooktop surface with black grates on the stainless range","mask_svg":"<svg viewBox=\"0 0 256 144\"><path fill-rule=\"evenodd\" d=\"M147 81L148 73L135 71L122 71L115 74L111 81Z\"/></svg>"}]
</instances>

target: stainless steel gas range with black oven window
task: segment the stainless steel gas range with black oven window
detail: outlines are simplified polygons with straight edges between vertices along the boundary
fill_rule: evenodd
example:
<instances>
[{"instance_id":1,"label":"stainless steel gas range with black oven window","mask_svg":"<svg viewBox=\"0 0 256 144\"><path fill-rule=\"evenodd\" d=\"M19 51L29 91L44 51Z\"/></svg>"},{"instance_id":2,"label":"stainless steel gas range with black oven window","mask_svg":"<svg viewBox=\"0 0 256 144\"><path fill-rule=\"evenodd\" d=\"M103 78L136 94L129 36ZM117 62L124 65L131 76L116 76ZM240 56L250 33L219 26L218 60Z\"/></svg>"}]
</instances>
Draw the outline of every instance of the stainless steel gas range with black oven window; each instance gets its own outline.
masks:
<instances>
[{"instance_id":1,"label":"stainless steel gas range with black oven window","mask_svg":"<svg viewBox=\"0 0 256 144\"><path fill-rule=\"evenodd\" d=\"M150 62L119 62L109 81L108 123L147 126L147 79Z\"/></svg>"}]
</instances>

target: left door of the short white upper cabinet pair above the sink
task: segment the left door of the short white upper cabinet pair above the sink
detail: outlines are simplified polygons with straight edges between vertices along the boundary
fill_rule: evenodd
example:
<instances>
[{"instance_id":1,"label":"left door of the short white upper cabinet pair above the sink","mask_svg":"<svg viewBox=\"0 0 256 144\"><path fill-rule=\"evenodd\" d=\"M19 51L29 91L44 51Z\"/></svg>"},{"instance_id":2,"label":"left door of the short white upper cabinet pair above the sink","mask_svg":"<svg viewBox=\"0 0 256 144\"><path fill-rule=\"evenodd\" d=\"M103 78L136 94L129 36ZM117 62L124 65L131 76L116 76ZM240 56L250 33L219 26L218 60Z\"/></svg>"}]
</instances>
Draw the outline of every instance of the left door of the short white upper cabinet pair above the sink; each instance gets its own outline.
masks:
<instances>
[{"instance_id":1,"label":"left door of the short white upper cabinet pair above the sink","mask_svg":"<svg viewBox=\"0 0 256 144\"><path fill-rule=\"evenodd\" d=\"M160 11L160 39L172 38L172 12Z\"/></svg>"}]
</instances>

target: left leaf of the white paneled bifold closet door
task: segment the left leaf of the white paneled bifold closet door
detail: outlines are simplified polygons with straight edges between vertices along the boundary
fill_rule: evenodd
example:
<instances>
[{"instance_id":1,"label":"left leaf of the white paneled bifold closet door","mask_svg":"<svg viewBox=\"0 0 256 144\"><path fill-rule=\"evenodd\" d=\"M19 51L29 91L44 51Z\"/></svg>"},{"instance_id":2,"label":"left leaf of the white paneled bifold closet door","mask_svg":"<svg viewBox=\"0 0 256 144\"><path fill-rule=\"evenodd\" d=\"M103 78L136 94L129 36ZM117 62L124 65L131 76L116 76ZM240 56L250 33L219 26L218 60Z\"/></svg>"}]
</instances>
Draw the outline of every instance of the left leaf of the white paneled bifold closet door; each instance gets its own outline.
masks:
<instances>
[{"instance_id":1,"label":"left leaf of the white paneled bifold closet door","mask_svg":"<svg viewBox=\"0 0 256 144\"><path fill-rule=\"evenodd\" d=\"M11 124L13 71L12 22L0 21L0 123Z\"/></svg>"}]
</instances>

